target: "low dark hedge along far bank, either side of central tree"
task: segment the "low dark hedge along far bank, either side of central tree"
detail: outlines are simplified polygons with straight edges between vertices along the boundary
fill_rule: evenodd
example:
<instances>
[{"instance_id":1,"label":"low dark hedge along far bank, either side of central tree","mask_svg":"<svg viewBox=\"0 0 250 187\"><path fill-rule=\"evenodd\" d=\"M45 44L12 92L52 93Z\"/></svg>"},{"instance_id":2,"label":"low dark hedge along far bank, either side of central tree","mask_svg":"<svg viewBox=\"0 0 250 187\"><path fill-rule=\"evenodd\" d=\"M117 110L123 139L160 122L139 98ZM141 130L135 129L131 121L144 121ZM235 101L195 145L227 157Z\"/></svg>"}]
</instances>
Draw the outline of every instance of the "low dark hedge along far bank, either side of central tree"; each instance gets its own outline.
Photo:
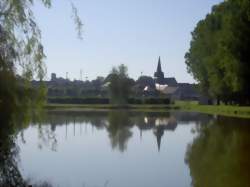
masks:
<instances>
[{"instance_id":1,"label":"low dark hedge along far bank, either side of central tree","mask_svg":"<svg viewBox=\"0 0 250 187\"><path fill-rule=\"evenodd\" d=\"M78 98L54 97L48 98L50 104L116 104L110 98ZM124 104L170 104L168 98L128 98Z\"/></svg>"}]
</instances>

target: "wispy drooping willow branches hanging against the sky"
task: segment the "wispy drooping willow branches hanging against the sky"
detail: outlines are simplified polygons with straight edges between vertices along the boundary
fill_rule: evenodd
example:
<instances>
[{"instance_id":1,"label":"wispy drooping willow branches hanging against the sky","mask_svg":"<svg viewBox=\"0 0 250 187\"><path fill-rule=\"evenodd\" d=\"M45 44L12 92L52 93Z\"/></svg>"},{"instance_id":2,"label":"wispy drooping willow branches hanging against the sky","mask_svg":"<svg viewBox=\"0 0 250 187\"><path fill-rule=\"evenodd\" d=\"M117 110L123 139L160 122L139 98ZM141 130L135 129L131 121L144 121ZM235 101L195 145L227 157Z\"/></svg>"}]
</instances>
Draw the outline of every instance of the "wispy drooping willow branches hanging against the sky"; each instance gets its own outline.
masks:
<instances>
[{"instance_id":1,"label":"wispy drooping willow branches hanging against the sky","mask_svg":"<svg viewBox=\"0 0 250 187\"><path fill-rule=\"evenodd\" d=\"M40 1L46 8L50 8L52 0ZM33 13L35 0L1 0L0 1L0 52L3 62L13 61L12 70L17 67L24 78L30 80L33 76L43 79L46 74L44 63L45 53L41 42L41 30ZM82 39L82 21L74 3L69 0L72 9L72 19L76 26L77 36ZM9 50L11 46L12 50ZM12 54L3 55L8 51ZM2 63L1 63L2 64ZM1 66L0 64L0 66ZM1 67L0 67L1 69Z\"/></svg>"}]
</instances>

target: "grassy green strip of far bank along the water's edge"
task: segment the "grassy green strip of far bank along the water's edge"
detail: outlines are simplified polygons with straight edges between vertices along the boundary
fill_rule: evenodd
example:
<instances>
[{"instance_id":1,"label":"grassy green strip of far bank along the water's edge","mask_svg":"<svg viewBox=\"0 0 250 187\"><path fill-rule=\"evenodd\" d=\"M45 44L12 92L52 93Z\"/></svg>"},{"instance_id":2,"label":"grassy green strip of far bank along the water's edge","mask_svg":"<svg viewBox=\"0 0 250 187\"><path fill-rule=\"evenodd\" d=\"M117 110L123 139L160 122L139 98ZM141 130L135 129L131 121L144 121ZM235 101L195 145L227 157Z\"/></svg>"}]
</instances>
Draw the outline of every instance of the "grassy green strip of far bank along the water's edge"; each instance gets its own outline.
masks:
<instances>
[{"instance_id":1,"label":"grassy green strip of far bank along the water's edge","mask_svg":"<svg viewBox=\"0 0 250 187\"><path fill-rule=\"evenodd\" d=\"M145 112L186 111L212 115L223 115L250 118L250 107L226 105L199 105L197 102L177 101L172 105L110 105L110 104L47 104L45 109L56 111L105 111L105 110L136 110Z\"/></svg>"}]
</instances>

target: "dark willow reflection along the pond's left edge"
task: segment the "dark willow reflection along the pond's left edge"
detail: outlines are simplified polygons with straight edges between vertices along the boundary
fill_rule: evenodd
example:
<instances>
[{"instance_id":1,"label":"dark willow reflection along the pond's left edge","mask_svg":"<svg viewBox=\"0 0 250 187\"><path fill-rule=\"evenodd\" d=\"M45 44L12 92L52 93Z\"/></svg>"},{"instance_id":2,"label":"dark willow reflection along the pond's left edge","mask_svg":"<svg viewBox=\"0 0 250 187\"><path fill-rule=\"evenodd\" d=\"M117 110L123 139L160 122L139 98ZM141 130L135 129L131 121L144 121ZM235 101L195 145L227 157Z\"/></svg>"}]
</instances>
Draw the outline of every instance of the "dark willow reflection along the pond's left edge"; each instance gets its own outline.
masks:
<instances>
[{"instance_id":1,"label":"dark willow reflection along the pond's left edge","mask_svg":"<svg viewBox=\"0 0 250 187\"><path fill-rule=\"evenodd\" d=\"M13 108L14 109L14 108ZM19 147L17 135L30 123L30 112L17 110L0 110L0 187L52 187L49 182L30 182L25 180L19 170Z\"/></svg>"}]
</instances>

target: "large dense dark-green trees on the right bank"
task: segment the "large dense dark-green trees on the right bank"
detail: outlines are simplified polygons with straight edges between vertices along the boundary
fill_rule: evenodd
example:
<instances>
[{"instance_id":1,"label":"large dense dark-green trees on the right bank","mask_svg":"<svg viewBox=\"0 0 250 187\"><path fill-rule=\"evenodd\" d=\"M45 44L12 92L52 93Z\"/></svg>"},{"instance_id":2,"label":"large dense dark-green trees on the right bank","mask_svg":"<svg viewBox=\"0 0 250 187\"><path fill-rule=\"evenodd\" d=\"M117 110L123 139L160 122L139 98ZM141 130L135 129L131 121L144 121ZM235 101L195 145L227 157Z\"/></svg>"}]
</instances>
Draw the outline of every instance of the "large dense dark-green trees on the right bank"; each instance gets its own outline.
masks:
<instances>
[{"instance_id":1,"label":"large dense dark-green trees on the right bank","mask_svg":"<svg viewBox=\"0 0 250 187\"><path fill-rule=\"evenodd\" d=\"M225 104L250 104L250 1L214 6L192 32L185 55L201 91Z\"/></svg>"}]
</instances>

